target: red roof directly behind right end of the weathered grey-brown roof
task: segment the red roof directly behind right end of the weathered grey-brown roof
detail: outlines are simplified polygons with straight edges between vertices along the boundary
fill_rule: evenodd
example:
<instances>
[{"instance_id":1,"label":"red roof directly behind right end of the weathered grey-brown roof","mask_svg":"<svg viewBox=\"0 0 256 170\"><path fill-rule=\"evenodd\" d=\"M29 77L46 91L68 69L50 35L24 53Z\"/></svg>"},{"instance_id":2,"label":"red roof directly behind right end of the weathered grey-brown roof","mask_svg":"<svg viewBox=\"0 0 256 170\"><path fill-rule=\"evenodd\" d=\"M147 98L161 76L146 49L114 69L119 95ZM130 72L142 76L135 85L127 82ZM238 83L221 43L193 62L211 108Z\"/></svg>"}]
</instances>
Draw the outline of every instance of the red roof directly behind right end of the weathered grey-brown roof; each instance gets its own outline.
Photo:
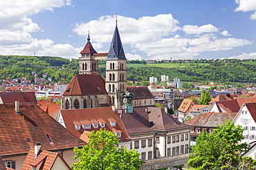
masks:
<instances>
[{"instance_id":1,"label":"red roof directly behind right end of the weathered grey-brown roof","mask_svg":"<svg viewBox=\"0 0 256 170\"><path fill-rule=\"evenodd\" d=\"M237 112L240 109L236 99L215 102L215 105L217 106L219 112L223 112L223 110L226 112Z\"/></svg>"}]
</instances>

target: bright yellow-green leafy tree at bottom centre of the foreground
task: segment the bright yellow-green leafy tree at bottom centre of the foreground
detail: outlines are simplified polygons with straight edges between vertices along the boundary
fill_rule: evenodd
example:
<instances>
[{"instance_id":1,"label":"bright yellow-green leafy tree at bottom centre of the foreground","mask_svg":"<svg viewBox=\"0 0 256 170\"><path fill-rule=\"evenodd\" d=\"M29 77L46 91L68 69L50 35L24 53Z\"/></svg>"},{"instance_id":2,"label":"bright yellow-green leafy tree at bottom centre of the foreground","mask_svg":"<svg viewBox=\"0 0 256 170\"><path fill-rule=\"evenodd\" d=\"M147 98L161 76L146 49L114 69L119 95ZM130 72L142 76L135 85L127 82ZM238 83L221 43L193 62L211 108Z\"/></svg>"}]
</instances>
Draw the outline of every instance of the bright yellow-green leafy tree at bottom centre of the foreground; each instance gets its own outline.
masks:
<instances>
[{"instance_id":1,"label":"bright yellow-green leafy tree at bottom centre of the foreground","mask_svg":"<svg viewBox=\"0 0 256 170\"><path fill-rule=\"evenodd\" d=\"M92 131L88 134L90 140L82 149L75 147L72 169L90 170L115 170L115 169L140 169L144 163L138 157L140 153L135 150L127 151L126 148L118 148L119 139L113 131L106 129Z\"/></svg>"}]
</instances>

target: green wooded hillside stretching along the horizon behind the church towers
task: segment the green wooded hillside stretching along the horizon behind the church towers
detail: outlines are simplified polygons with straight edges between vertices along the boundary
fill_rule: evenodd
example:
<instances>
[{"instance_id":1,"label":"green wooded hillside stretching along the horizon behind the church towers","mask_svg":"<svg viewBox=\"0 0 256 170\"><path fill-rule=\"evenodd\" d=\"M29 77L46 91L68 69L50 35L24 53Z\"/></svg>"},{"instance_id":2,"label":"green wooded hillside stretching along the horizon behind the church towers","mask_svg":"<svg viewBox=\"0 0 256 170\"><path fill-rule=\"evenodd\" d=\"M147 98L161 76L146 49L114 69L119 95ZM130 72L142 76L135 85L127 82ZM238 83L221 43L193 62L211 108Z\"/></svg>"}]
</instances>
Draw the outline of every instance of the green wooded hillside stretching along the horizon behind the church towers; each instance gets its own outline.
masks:
<instances>
[{"instance_id":1,"label":"green wooded hillside stretching along the horizon behind the church towers","mask_svg":"<svg viewBox=\"0 0 256 170\"><path fill-rule=\"evenodd\" d=\"M105 61L99 61L99 72L105 76ZM5 78L22 78L26 76L33 82L33 75L42 77L46 73L53 83L69 83L78 74L78 59L62 59L53 56L0 56L0 82ZM161 75L180 78L182 82L208 84L255 84L256 61L248 59L226 60L177 60L177 61L127 61L128 81L149 81L149 76Z\"/></svg>"}]
</instances>

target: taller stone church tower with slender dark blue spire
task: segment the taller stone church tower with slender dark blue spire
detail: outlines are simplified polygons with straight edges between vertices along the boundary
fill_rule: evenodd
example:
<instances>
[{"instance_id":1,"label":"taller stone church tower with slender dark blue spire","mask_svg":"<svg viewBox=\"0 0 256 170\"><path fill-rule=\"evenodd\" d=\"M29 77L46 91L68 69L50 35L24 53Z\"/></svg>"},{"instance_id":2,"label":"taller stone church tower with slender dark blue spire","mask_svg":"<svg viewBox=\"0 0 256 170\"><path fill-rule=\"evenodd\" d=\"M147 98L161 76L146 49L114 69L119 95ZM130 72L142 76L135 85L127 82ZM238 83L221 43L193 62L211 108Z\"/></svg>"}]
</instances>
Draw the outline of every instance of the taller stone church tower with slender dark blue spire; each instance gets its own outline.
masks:
<instances>
[{"instance_id":1,"label":"taller stone church tower with slender dark blue spire","mask_svg":"<svg viewBox=\"0 0 256 170\"><path fill-rule=\"evenodd\" d=\"M106 89L109 103L122 109L122 94L127 91L125 52L122 48L118 25L113 33L109 54L106 59Z\"/></svg>"}]
</instances>

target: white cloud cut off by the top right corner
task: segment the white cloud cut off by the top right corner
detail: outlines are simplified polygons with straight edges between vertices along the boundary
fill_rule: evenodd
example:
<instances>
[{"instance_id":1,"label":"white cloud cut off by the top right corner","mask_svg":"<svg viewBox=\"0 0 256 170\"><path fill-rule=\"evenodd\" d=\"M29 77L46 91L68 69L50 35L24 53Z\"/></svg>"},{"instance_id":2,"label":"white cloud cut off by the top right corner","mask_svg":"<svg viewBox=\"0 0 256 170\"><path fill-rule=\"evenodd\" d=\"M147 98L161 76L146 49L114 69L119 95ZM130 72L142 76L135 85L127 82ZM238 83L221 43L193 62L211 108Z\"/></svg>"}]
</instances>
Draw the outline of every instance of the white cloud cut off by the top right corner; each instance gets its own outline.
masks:
<instances>
[{"instance_id":1,"label":"white cloud cut off by the top right corner","mask_svg":"<svg viewBox=\"0 0 256 170\"><path fill-rule=\"evenodd\" d=\"M248 11L255 11L254 14L250 15L250 19L256 19L256 1L255 0L236 0L235 3L237 3L239 6L235 9L235 11L242 11L242 12L248 12Z\"/></svg>"}]
</instances>

